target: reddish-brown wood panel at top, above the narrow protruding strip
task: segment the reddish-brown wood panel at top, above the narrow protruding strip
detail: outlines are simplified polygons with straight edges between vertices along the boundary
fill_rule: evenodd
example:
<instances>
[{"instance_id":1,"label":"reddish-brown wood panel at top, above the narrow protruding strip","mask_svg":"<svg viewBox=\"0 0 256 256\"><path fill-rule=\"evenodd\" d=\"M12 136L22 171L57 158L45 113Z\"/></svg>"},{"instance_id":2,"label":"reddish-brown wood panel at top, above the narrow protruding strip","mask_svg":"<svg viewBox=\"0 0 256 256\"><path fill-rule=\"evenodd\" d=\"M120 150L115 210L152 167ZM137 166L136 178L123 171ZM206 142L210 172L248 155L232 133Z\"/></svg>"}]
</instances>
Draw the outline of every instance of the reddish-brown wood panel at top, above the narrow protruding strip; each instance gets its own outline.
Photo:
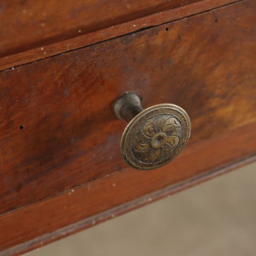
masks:
<instances>
[{"instance_id":1,"label":"reddish-brown wood panel at top, above the narrow protruding strip","mask_svg":"<svg viewBox=\"0 0 256 256\"><path fill-rule=\"evenodd\" d=\"M186 4L198 0L186 1ZM184 4L173 0L1 1L0 56L79 36ZM10 19L12 17L12 19ZM79 32L81 31L81 32Z\"/></svg>"}]
</instances>

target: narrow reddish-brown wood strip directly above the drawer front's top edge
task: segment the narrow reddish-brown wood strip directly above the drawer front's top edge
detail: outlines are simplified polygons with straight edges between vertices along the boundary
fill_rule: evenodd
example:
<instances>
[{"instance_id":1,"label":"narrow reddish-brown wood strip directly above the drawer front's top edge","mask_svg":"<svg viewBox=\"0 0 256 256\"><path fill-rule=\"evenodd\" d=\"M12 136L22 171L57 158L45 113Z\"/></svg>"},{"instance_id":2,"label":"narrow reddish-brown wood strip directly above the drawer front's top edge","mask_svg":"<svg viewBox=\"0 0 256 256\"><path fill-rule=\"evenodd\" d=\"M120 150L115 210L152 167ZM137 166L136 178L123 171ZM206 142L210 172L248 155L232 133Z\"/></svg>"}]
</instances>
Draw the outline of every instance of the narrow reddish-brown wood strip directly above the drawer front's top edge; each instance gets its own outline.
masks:
<instances>
[{"instance_id":1,"label":"narrow reddish-brown wood strip directly above the drawer front's top edge","mask_svg":"<svg viewBox=\"0 0 256 256\"><path fill-rule=\"evenodd\" d=\"M179 8L151 14L149 16L141 17L135 21L124 22L122 24L117 24L116 26L107 27L106 29L101 29L95 32L90 32L82 36L74 37L72 39L66 39L64 41L55 42L50 45L30 49L25 52L19 52L18 54L14 54L11 56L2 57L0 59L0 71L4 71L9 68L14 69L14 67L22 66L30 62L39 61L41 59L47 59L48 57L72 52L83 47L97 44L99 42L105 42L127 34L132 34L134 32L141 31L142 29L150 29L151 27L157 27L172 21L184 19L184 17L191 17L210 10L219 9L221 7L230 6L232 4L237 4L245 0L226 1L227 2L225 4L219 3L219 5L215 4L215 6L214 4L212 4L211 0L195 2L187 6L182 6ZM222 1L220 0L220 2ZM212 6L207 7L209 4L212 4ZM199 8L197 8L197 6L199 6ZM199 11L195 11L197 9L199 9ZM124 31L124 33L122 33L121 31Z\"/></svg>"}]
</instances>

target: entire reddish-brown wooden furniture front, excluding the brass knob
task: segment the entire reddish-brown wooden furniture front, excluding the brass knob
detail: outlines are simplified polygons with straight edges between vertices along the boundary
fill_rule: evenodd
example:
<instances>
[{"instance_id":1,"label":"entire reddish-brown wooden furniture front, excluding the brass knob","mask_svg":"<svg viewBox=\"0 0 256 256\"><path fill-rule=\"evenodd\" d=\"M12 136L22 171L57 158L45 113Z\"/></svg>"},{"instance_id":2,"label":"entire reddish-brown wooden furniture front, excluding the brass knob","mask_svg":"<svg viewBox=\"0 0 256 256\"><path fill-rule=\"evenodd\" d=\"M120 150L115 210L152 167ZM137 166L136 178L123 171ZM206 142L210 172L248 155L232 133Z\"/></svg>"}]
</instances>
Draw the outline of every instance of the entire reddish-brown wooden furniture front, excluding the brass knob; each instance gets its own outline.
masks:
<instances>
[{"instance_id":1,"label":"entire reddish-brown wooden furniture front, excluding the brass knob","mask_svg":"<svg viewBox=\"0 0 256 256\"><path fill-rule=\"evenodd\" d=\"M255 1L102 2L1 3L0 255L255 160ZM170 164L123 162L111 106L126 91L189 114Z\"/></svg>"}]
</instances>

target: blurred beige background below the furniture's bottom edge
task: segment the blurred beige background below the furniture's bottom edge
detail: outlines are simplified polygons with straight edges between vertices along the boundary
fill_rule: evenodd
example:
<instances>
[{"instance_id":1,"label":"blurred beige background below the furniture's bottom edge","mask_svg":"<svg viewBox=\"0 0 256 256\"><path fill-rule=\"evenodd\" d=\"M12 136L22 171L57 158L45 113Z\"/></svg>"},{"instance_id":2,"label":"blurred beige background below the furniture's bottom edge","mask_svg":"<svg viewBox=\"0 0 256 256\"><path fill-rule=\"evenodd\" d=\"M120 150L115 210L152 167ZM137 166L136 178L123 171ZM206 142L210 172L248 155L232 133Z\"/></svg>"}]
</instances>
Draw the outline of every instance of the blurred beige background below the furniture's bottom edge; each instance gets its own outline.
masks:
<instances>
[{"instance_id":1,"label":"blurred beige background below the furniture's bottom edge","mask_svg":"<svg viewBox=\"0 0 256 256\"><path fill-rule=\"evenodd\" d=\"M31 256L254 256L256 163L30 252Z\"/></svg>"}]
</instances>

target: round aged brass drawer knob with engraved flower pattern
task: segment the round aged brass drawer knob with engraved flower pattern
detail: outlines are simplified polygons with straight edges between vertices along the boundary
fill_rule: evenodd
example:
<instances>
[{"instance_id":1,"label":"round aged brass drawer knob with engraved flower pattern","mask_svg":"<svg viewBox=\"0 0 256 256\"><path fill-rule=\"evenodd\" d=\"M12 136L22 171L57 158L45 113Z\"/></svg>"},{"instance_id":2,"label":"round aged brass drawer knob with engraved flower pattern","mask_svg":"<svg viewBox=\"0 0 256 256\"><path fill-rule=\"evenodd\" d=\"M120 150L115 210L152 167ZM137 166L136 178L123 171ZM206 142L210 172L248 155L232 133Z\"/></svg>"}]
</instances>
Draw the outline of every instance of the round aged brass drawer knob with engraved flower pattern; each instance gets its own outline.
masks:
<instances>
[{"instance_id":1,"label":"round aged brass drawer knob with engraved flower pattern","mask_svg":"<svg viewBox=\"0 0 256 256\"><path fill-rule=\"evenodd\" d=\"M174 104L158 104L142 109L140 97L132 92L119 96L114 113L127 125L121 139L124 161L139 170L158 168L172 161L187 144L190 120Z\"/></svg>"}]
</instances>

